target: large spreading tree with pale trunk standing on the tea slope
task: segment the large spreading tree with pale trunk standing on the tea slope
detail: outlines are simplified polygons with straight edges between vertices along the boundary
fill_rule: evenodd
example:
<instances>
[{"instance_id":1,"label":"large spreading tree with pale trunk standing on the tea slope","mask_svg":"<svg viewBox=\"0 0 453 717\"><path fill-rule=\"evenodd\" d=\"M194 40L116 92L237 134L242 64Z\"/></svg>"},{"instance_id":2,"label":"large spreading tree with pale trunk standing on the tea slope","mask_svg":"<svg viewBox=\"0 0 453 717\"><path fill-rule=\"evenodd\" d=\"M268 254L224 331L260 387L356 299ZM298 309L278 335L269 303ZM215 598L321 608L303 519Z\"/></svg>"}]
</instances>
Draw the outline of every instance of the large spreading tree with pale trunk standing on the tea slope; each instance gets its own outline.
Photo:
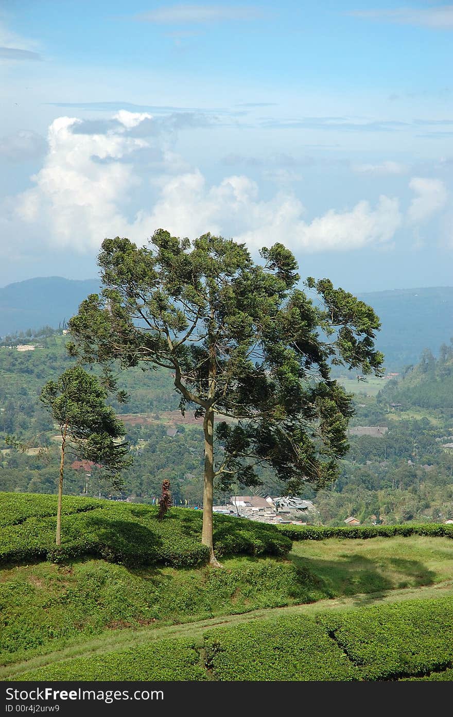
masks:
<instances>
[{"instance_id":1,"label":"large spreading tree with pale trunk standing on the tea slope","mask_svg":"<svg viewBox=\"0 0 453 717\"><path fill-rule=\"evenodd\" d=\"M287 494L335 480L353 408L330 366L381 375L383 362L371 307L309 277L314 303L297 288L290 250L274 244L260 255L262 264L232 239L204 234L190 242L163 229L144 247L105 239L102 293L83 301L69 323L70 353L99 362L106 376L113 362L163 366L181 412L194 409L202 420L201 539L213 565L214 479L225 485L237 475L242 485L257 485L255 469L267 462Z\"/></svg>"}]
</instances>

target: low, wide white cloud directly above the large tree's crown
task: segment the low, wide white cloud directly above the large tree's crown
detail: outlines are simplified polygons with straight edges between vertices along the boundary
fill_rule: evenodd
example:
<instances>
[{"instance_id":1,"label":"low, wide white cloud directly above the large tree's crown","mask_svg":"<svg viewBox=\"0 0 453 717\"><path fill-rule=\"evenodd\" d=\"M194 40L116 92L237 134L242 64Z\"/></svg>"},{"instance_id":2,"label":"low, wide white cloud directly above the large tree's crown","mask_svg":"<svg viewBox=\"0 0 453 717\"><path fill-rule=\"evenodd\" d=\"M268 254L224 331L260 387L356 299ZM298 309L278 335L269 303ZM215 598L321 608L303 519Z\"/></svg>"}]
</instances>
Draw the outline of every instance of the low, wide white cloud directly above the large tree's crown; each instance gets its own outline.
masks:
<instances>
[{"instance_id":1,"label":"low, wide white cloud directly above the large tree's crown","mask_svg":"<svg viewBox=\"0 0 453 717\"><path fill-rule=\"evenodd\" d=\"M390 241L401 226L399 201L381 196L375 209L360 201L351 211L330 209L305 222L305 208L294 195L281 191L259 201L258 187L243 176L232 176L207 187L200 172L186 174L163 186L151 215L138 225L151 234L166 227L174 234L194 237L206 231L227 234L251 249L282 242L295 251L321 252L359 249Z\"/></svg>"}]
</instances>

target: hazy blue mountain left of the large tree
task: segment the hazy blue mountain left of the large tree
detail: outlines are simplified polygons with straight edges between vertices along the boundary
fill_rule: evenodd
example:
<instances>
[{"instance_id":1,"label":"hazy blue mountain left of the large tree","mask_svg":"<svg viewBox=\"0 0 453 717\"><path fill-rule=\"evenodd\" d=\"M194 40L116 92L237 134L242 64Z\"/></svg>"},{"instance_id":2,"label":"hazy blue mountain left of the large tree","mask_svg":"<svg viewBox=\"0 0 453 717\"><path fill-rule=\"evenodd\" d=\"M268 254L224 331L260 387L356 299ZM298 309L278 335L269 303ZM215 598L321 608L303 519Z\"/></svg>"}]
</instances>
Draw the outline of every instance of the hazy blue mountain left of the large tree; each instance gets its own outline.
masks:
<instances>
[{"instance_id":1,"label":"hazy blue mountain left of the large tree","mask_svg":"<svg viewBox=\"0 0 453 717\"><path fill-rule=\"evenodd\" d=\"M99 285L97 279L49 276L0 288L0 336L46 325L57 328L65 318L77 313L88 294L97 293Z\"/></svg>"}]
</instances>

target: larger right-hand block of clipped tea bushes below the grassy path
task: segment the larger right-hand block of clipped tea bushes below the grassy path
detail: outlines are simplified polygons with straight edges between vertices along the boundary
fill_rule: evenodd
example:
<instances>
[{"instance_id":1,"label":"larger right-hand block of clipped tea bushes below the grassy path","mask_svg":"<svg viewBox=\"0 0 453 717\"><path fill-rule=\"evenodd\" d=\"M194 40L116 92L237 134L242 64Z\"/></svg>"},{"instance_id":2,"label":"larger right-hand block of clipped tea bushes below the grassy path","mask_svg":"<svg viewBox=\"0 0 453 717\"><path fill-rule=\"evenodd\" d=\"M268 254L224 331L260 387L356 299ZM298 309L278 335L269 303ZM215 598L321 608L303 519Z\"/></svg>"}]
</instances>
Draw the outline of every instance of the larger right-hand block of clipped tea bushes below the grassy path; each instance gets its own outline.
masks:
<instances>
[{"instance_id":1,"label":"larger right-hand block of clipped tea bushes below the grassy path","mask_svg":"<svg viewBox=\"0 0 453 717\"><path fill-rule=\"evenodd\" d=\"M450 668L453 599L414 600L206 633L217 680L398 680Z\"/></svg>"}]
</instances>

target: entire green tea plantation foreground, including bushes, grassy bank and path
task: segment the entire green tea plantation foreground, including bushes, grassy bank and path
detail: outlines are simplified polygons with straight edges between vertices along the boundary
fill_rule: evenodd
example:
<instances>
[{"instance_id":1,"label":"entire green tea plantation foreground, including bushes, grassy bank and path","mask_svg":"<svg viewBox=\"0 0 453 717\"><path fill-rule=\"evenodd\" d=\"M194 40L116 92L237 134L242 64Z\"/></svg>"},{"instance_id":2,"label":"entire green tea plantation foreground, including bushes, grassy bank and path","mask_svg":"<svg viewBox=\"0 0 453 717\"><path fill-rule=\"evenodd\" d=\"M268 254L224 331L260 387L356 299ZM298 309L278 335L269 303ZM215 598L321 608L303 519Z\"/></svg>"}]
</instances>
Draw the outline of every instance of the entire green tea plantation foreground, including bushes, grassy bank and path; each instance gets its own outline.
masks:
<instances>
[{"instance_id":1,"label":"entire green tea plantation foreground, including bushes, grassy bank and path","mask_svg":"<svg viewBox=\"0 0 453 717\"><path fill-rule=\"evenodd\" d=\"M57 549L56 510L0 493L0 679L453 677L452 526L214 516L212 569L198 511L65 496Z\"/></svg>"}]
</instances>

